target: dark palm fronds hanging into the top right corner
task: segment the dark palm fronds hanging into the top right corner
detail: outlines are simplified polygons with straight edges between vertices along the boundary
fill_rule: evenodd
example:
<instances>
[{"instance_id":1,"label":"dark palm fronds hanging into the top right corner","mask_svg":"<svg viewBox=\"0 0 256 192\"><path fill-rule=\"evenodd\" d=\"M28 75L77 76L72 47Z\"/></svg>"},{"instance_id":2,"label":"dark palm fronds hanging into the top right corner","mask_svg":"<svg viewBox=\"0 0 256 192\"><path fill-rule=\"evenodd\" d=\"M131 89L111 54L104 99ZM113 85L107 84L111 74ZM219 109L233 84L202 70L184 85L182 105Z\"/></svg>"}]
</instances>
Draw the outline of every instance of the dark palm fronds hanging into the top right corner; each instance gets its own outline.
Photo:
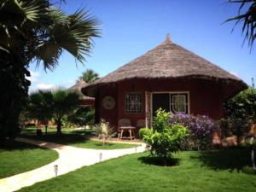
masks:
<instances>
[{"instance_id":1,"label":"dark palm fronds hanging into the top right corner","mask_svg":"<svg viewBox=\"0 0 256 192\"><path fill-rule=\"evenodd\" d=\"M242 23L241 32L245 33L244 41L248 41L248 46L252 49L256 38L256 1L255 0L229 0L230 3L239 3L238 15L226 21L235 20L235 26ZM241 13L245 11L244 13Z\"/></svg>"}]
</instances>

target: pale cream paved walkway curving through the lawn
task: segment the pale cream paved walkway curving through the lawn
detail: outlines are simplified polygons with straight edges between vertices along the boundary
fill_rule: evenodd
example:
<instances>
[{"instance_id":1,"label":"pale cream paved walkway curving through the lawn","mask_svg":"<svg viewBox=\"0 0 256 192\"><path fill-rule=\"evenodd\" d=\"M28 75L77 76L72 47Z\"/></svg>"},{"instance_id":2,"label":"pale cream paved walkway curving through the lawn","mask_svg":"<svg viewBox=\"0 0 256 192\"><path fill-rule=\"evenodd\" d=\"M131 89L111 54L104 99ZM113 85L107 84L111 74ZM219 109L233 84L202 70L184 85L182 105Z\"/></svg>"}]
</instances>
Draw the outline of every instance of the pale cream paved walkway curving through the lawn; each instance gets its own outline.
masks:
<instances>
[{"instance_id":1,"label":"pale cream paved walkway curving through the lawn","mask_svg":"<svg viewBox=\"0 0 256 192\"><path fill-rule=\"evenodd\" d=\"M23 172L15 176L0 179L0 191L9 192L30 186L34 183L47 180L55 177L54 166L58 165L58 176L72 172L82 166L90 166L103 160L109 160L125 154L135 154L143 152L145 145L137 148L125 149L90 149L90 148L75 148L67 145L56 143L46 143L32 139L16 138L19 142L32 143L44 148L50 148L58 152L59 159L54 162L41 166L30 172ZM102 154L102 155L101 155ZM26 154L25 154L26 155ZM100 158L102 156L102 158Z\"/></svg>"}]
</instances>

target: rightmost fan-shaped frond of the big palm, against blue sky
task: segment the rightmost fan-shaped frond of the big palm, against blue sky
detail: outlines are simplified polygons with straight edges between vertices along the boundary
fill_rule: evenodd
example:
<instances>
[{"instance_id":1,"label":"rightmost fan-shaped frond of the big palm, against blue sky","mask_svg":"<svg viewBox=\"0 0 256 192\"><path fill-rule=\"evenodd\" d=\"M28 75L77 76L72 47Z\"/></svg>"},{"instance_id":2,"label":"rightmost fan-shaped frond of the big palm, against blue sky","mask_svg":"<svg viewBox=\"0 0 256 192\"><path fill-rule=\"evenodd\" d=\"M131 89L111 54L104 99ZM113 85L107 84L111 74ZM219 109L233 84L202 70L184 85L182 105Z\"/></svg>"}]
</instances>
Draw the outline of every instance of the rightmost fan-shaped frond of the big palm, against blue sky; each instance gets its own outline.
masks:
<instances>
[{"instance_id":1,"label":"rightmost fan-shaped frond of the big palm, against blue sky","mask_svg":"<svg viewBox=\"0 0 256 192\"><path fill-rule=\"evenodd\" d=\"M89 55L93 37L99 37L98 20L90 17L84 9L67 17L67 24L53 26L52 35L57 44L66 49L78 61L83 62Z\"/></svg>"}]
</instances>

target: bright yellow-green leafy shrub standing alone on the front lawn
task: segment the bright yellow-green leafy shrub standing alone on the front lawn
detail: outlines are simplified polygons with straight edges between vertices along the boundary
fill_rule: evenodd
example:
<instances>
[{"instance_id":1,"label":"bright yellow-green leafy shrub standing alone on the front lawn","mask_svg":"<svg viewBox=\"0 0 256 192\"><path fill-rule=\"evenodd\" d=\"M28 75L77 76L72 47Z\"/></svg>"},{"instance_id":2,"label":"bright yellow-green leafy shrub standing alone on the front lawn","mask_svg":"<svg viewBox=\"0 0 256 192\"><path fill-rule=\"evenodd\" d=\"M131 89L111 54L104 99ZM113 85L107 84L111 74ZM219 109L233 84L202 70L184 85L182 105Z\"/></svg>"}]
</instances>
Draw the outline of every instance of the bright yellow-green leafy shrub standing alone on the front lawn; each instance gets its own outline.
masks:
<instances>
[{"instance_id":1,"label":"bright yellow-green leafy shrub standing alone on the front lawn","mask_svg":"<svg viewBox=\"0 0 256 192\"><path fill-rule=\"evenodd\" d=\"M165 165L167 158L172 158L172 154L180 149L183 137L187 136L187 128L183 125L168 124L169 115L158 110L153 119L153 128L140 130L140 136L150 146L151 154L163 158Z\"/></svg>"}]
</instances>

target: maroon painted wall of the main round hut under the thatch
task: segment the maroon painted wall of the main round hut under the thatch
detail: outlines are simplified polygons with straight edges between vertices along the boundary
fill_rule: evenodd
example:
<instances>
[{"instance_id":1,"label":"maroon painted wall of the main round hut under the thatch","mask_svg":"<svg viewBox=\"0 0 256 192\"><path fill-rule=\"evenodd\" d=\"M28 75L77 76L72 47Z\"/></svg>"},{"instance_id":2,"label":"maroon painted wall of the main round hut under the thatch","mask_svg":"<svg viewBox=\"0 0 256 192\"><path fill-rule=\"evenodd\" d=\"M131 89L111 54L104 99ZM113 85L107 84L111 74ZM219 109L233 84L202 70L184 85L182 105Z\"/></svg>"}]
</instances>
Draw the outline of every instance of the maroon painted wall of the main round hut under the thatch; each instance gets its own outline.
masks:
<instances>
[{"instance_id":1,"label":"maroon painted wall of the main round hut under the thatch","mask_svg":"<svg viewBox=\"0 0 256 192\"><path fill-rule=\"evenodd\" d=\"M100 119L106 119L111 125L117 127L118 120L131 119L132 125L136 125L137 119L145 119L145 91L172 92L189 91L190 114L205 114L212 119L223 117L222 103L226 99L228 87L218 81L202 79L133 79L114 84L102 85L98 88L98 115ZM127 93L142 93L143 113L125 113L125 95ZM105 96L115 98L115 107L106 110L102 107L102 99Z\"/></svg>"}]
</instances>

